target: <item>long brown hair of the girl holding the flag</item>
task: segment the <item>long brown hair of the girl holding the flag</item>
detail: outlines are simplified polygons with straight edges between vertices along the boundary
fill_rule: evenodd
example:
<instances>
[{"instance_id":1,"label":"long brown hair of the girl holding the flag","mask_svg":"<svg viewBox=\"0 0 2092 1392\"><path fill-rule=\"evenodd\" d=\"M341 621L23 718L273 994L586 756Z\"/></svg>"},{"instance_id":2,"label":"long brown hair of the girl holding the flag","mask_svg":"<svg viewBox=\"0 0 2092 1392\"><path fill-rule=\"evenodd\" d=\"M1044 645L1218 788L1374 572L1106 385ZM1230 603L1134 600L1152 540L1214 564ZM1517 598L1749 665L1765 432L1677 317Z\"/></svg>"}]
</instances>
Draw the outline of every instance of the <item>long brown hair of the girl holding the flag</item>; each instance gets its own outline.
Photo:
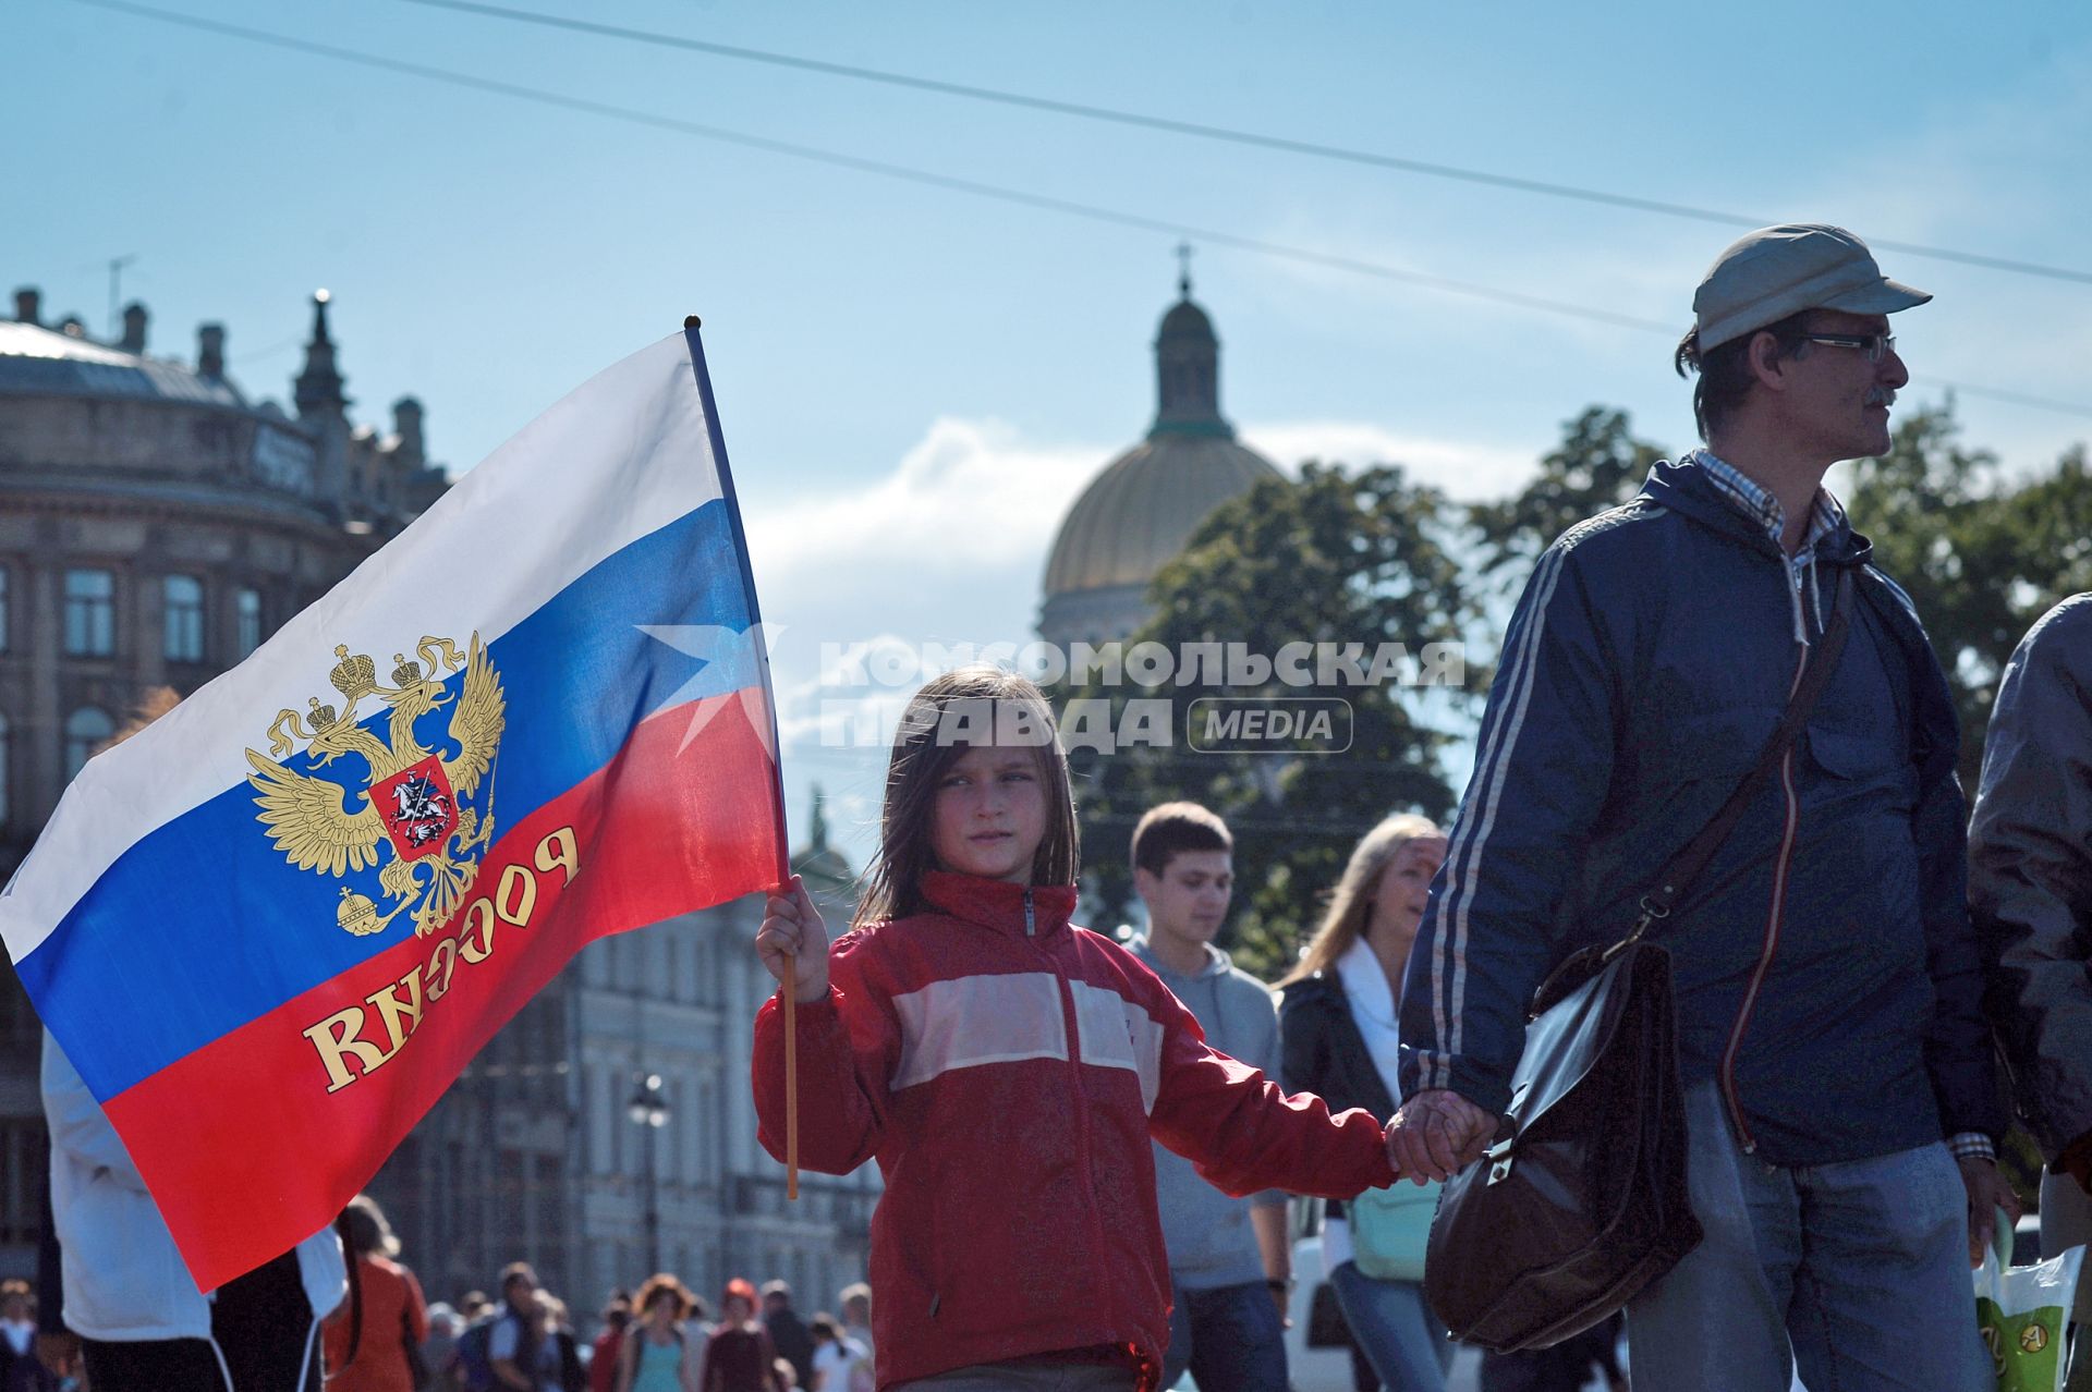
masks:
<instances>
[{"instance_id":1,"label":"long brown hair of the girl holding the flag","mask_svg":"<svg viewBox=\"0 0 2092 1392\"><path fill-rule=\"evenodd\" d=\"M983 734L987 738L979 738ZM1052 706L1040 688L1013 671L960 667L927 681L902 711L879 813L879 853L864 869L864 897L858 901L854 928L908 918L927 907L920 884L937 867L929 846L937 784L969 748L998 740L1031 750L1040 792L1046 796L1046 836L1031 857L1031 882L1075 882L1082 859L1075 796Z\"/></svg>"}]
</instances>

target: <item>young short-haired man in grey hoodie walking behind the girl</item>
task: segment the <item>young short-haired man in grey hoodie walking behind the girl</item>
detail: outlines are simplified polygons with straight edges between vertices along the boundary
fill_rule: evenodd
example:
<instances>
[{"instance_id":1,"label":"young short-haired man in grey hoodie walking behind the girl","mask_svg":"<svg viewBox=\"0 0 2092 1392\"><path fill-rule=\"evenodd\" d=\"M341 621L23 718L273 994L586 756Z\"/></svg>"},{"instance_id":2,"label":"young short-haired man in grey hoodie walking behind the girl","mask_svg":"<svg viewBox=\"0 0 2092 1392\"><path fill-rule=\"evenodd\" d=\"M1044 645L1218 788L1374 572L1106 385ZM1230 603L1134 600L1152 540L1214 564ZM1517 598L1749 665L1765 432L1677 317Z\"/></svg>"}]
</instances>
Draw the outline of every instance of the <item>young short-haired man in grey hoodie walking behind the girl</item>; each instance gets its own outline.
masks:
<instances>
[{"instance_id":1,"label":"young short-haired man in grey hoodie walking behind the girl","mask_svg":"<svg viewBox=\"0 0 2092 1392\"><path fill-rule=\"evenodd\" d=\"M1272 993L1213 947L1234 892L1228 823L1197 803L1163 803L1134 828L1132 859L1149 930L1128 949L1155 968L1215 1049L1276 1078ZM1188 1367L1199 1392L1284 1392L1287 1196L1228 1198L1190 1160L1157 1145L1155 1198L1174 1287L1161 1386Z\"/></svg>"}]
</instances>

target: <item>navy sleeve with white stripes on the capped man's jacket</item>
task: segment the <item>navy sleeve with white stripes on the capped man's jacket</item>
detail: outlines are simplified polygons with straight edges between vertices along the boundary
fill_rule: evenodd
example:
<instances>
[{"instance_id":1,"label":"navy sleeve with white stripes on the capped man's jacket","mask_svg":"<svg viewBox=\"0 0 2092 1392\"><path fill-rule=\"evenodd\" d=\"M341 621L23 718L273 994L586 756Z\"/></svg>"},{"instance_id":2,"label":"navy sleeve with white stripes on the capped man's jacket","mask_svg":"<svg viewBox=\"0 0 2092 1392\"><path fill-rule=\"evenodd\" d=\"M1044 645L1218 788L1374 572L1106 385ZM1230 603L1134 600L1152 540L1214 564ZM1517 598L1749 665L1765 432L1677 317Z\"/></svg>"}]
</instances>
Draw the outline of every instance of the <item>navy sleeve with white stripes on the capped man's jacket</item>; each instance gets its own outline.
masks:
<instances>
[{"instance_id":1,"label":"navy sleeve with white stripes on the capped man's jacket","mask_svg":"<svg viewBox=\"0 0 2092 1392\"><path fill-rule=\"evenodd\" d=\"M1542 554L1504 633L1475 773L1410 951L1402 1091L1452 1089L1502 1114L1525 1005L1554 959L1554 913L1611 786L1621 654L1577 546Z\"/></svg>"}]
</instances>

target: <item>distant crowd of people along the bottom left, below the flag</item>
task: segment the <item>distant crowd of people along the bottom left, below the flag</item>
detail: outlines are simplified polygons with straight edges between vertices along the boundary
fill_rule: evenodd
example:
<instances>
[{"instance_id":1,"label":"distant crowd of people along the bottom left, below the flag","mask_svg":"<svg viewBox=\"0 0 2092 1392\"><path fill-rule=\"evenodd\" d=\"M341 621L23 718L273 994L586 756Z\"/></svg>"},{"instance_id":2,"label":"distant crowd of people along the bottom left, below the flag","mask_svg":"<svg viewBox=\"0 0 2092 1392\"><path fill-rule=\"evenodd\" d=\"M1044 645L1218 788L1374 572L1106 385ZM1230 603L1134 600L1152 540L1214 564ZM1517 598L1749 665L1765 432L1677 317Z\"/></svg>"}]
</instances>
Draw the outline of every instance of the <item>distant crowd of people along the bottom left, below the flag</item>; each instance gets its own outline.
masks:
<instances>
[{"instance_id":1,"label":"distant crowd of people along the bottom left, below the flag","mask_svg":"<svg viewBox=\"0 0 2092 1392\"><path fill-rule=\"evenodd\" d=\"M163 1229L144 1225L134 1239L155 1235ZM299 1275L308 1248L318 1269L310 1296ZM757 1294L736 1277L713 1310L678 1277L657 1273L638 1294L613 1290L600 1317L579 1329L529 1262L500 1271L496 1298L471 1290L454 1304L429 1302L370 1196L351 1200L333 1229L211 1294L186 1281L172 1248L163 1256L146 1267L90 1267L61 1242L48 1252L52 1273L63 1269L50 1281L59 1298L40 1302L27 1281L0 1283L0 1392L874 1388L864 1283L839 1292L841 1317L803 1319L780 1279Z\"/></svg>"}]
</instances>

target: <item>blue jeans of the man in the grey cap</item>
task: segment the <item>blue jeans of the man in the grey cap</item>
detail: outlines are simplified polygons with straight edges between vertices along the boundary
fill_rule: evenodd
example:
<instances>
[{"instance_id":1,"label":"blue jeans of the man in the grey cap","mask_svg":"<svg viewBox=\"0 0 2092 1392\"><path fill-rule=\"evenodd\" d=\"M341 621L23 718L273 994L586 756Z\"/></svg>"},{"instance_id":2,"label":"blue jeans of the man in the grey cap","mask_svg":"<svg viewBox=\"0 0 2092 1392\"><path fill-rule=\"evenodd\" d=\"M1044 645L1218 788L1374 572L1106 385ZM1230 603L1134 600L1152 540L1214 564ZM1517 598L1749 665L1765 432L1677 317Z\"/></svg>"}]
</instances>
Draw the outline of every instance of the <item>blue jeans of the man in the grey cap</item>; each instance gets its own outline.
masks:
<instances>
[{"instance_id":1,"label":"blue jeans of the man in the grey cap","mask_svg":"<svg viewBox=\"0 0 2092 1392\"><path fill-rule=\"evenodd\" d=\"M1778 1166L1743 1154L1720 1089L1686 1091L1707 1235L1628 1306L1634 1392L1992 1392L1969 1193L1939 1141ZM1789 1350L1791 1346L1791 1350Z\"/></svg>"}]
</instances>

